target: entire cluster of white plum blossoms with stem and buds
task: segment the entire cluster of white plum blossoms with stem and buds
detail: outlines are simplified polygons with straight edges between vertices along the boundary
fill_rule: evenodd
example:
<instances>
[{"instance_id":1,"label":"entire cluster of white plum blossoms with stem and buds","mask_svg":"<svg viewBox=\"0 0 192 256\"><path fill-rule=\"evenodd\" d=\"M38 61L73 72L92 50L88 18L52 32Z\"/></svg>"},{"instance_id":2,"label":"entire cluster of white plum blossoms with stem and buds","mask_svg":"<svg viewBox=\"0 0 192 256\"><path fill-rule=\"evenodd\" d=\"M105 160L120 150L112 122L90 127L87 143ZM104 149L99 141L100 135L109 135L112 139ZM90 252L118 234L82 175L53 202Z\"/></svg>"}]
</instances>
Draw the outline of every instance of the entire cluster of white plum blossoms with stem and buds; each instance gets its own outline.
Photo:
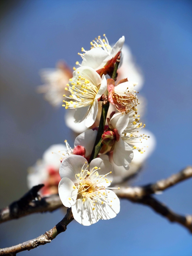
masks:
<instances>
[{"instance_id":1,"label":"entire cluster of white plum blossoms with stem and buds","mask_svg":"<svg viewBox=\"0 0 192 256\"><path fill-rule=\"evenodd\" d=\"M141 131L145 100L136 90L143 77L124 46L125 38L111 47L103 36L91 42L90 50L81 49L82 61L76 62L73 73L61 62L55 70L41 71L46 84L38 91L45 92L53 106L59 105L62 94L62 106L72 110L66 123L72 118L71 128L79 135L74 147L67 141L52 145L28 174L29 188L44 183L42 195L59 193L83 225L116 216L120 203L114 185L136 173L155 144L151 132Z\"/></svg>"}]
</instances>

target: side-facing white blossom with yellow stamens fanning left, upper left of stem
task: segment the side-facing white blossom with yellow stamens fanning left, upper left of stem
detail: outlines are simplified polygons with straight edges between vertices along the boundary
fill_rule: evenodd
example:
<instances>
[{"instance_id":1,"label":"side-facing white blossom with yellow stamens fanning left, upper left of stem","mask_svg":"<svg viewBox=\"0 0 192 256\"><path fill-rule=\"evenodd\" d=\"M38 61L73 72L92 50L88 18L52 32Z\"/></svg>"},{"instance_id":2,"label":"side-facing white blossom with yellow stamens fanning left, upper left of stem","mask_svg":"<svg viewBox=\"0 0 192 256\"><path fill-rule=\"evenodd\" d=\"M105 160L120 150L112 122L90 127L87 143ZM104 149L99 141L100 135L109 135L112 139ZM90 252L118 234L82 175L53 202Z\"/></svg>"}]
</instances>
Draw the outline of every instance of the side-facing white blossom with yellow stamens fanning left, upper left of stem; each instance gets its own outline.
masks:
<instances>
[{"instance_id":1,"label":"side-facing white blossom with yellow stamens fanning left, upper left of stem","mask_svg":"<svg viewBox=\"0 0 192 256\"><path fill-rule=\"evenodd\" d=\"M73 78L69 79L69 83L65 90L71 95L68 97L64 94L63 96L70 101L64 100L65 104L62 106L66 109L76 108L74 115L76 123L85 120L86 127L92 126L98 113L98 100L107 89L105 76L100 78L94 69L80 67L73 72Z\"/></svg>"}]
</instances>

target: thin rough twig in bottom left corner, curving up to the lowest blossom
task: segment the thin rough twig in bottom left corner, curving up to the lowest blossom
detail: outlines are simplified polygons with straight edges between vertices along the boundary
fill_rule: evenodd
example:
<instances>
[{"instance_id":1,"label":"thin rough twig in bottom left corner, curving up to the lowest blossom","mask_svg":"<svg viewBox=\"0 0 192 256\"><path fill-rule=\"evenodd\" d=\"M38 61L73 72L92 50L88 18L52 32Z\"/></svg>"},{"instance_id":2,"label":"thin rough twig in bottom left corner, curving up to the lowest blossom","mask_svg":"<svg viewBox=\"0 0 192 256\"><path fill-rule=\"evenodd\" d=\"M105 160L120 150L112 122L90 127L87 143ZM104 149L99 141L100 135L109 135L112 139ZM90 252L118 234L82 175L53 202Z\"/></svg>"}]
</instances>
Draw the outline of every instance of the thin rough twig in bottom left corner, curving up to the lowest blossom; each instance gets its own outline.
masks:
<instances>
[{"instance_id":1,"label":"thin rough twig in bottom left corner, curving up to the lowest blossom","mask_svg":"<svg viewBox=\"0 0 192 256\"><path fill-rule=\"evenodd\" d=\"M44 235L38 236L35 239L28 240L22 244L18 244L15 246L7 247L4 249L0 249L0 255L16 255L18 252L29 251L31 249L36 248L39 245L44 245L47 243L51 243L51 241L59 235L61 232L64 232L67 229L67 225L74 220L71 208L68 208L67 214L65 217L52 229L46 231Z\"/></svg>"}]
</instances>

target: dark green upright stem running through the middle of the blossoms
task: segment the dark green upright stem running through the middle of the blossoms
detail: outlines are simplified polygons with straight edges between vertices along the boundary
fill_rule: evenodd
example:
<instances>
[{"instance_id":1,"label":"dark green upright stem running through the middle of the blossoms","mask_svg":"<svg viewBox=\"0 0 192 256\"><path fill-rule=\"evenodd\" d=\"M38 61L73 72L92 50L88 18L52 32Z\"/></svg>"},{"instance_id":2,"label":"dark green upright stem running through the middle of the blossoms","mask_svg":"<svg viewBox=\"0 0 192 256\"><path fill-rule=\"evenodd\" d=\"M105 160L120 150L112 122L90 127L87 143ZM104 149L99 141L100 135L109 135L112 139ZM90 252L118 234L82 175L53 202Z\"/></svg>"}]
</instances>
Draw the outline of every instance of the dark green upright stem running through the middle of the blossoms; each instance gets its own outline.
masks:
<instances>
[{"instance_id":1,"label":"dark green upright stem running through the middle of the blossoms","mask_svg":"<svg viewBox=\"0 0 192 256\"><path fill-rule=\"evenodd\" d=\"M116 80L116 74L117 74L117 68L119 66L119 62L120 62L120 56L117 58L116 63L115 63L115 67L114 67L114 71L113 71L113 75L111 78L113 78L114 80ZM105 101L104 101L105 102ZM91 161L94 158L97 158L101 147L102 147L102 134L104 132L104 127L105 127L105 122L106 122L106 118L107 118L107 112L109 109L109 102L107 101L107 103L102 103L102 110L101 110L101 117L100 117L100 123L99 123L99 127L98 127L98 131L97 131L97 137L95 140L95 144L93 146L93 150L89 159L89 163L91 163Z\"/></svg>"}]
</instances>

